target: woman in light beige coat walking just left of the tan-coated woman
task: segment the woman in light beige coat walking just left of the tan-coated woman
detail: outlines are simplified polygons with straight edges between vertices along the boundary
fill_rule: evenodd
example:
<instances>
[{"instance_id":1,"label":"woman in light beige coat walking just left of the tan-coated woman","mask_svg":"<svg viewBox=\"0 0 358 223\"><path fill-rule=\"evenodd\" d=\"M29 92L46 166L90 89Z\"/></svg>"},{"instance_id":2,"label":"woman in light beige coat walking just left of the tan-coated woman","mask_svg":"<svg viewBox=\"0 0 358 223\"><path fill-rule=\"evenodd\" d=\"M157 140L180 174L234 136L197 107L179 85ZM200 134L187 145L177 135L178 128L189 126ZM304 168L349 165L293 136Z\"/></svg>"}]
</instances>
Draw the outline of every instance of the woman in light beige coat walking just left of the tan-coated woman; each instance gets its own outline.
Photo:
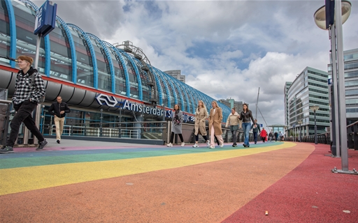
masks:
<instances>
[{"instance_id":1,"label":"woman in light beige coat walking just left of the tan-coated woman","mask_svg":"<svg viewBox=\"0 0 358 223\"><path fill-rule=\"evenodd\" d=\"M193 146L194 148L199 147L199 134L201 134L201 136L205 139L206 146L210 147L210 142L208 140L208 137L206 137L206 118L208 118L208 110L206 110L204 102L202 100L199 100L198 107L196 108L195 112L195 144Z\"/></svg>"}]
</instances>

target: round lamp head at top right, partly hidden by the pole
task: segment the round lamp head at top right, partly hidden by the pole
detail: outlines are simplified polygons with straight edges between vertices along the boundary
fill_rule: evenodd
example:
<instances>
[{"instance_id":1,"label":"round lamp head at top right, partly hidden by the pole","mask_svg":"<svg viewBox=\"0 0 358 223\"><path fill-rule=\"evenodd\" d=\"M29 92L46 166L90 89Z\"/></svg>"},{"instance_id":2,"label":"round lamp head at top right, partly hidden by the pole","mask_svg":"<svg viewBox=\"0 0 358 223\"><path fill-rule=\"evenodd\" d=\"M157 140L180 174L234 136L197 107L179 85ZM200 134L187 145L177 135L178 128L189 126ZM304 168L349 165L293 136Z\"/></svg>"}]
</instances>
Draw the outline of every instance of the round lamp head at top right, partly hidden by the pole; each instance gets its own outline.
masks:
<instances>
[{"instance_id":1,"label":"round lamp head at top right, partly hidden by the pole","mask_svg":"<svg viewBox=\"0 0 358 223\"><path fill-rule=\"evenodd\" d=\"M341 1L342 2L342 24L345 23L345 21L348 20L348 17L350 17L350 10L352 8L352 4L350 3L350 1ZM322 6L321 8L318 8L315 12L315 14L313 15L313 17L315 18L315 24L320 28L320 29L326 29L326 6ZM335 19L336 20L336 19Z\"/></svg>"}]
</instances>

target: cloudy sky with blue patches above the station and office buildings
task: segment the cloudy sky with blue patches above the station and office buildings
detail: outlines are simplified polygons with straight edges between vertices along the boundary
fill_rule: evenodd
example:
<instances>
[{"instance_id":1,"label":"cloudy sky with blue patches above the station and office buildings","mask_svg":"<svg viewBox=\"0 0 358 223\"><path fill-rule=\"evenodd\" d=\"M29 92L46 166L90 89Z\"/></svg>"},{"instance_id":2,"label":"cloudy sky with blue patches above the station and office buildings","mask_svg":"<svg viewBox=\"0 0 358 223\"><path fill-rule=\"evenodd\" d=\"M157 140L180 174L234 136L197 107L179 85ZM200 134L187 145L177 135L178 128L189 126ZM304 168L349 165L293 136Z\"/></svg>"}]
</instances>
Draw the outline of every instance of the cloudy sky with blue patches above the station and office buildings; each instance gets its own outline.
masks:
<instances>
[{"instance_id":1,"label":"cloudy sky with blue patches above the station and office buildings","mask_svg":"<svg viewBox=\"0 0 358 223\"><path fill-rule=\"evenodd\" d=\"M108 43L130 40L152 66L181 70L187 84L215 99L248 102L255 111L260 89L268 125L285 122L285 82L307 66L327 71L329 63L329 33L313 20L324 0L53 2L66 23ZM344 50L358 48L358 0L350 2Z\"/></svg>"}]
</instances>

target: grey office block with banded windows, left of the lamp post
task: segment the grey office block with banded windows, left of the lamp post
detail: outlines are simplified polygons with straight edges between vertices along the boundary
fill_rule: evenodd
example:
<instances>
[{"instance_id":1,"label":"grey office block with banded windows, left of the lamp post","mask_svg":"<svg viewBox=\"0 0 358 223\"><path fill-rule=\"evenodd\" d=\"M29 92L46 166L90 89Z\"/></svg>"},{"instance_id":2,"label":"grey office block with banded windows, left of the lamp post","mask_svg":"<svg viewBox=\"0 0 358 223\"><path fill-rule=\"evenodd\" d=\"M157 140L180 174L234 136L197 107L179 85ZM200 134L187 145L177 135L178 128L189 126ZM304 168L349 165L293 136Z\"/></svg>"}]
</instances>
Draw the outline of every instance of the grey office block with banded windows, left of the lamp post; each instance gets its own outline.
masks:
<instances>
[{"instance_id":1,"label":"grey office block with banded windows, left of the lamp post","mask_svg":"<svg viewBox=\"0 0 358 223\"><path fill-rule=\"evenodd\" d=\"M328 73L314 68L305 68L294 82L285 84L285 123L287 134L293 135L299 132L299 121L303 135L314 134L315 114L311 106L318 105L316 111L317 133L326 132L329 127L329 91Z\"/></svg>"}]
</instances>

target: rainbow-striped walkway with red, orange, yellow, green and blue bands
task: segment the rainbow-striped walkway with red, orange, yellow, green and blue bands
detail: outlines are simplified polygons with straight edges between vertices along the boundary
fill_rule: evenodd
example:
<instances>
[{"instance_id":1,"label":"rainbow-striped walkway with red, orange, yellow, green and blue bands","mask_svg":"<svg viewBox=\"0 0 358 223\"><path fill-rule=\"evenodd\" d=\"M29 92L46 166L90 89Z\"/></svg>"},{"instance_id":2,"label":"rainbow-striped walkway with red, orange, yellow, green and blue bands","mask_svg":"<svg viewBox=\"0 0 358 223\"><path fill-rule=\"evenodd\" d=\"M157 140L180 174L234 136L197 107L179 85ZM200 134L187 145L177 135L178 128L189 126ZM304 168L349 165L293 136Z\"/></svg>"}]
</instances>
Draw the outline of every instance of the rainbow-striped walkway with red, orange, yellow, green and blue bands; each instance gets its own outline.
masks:
<instances>
[{"instance_id":1,"label":"rainbow-striped walkway with red, orange, yellow, green and blue bands","mask_svg":"<svg viewBox=\"0 0 358 223\"><path fill-rule=\"evenodd\" d=\"M0 222L358 220L358 176L331 173L341 159L327 145L49 141L0 155ZM358 151L349 155L358 169Z\"/></svg>"}]
</instances>

